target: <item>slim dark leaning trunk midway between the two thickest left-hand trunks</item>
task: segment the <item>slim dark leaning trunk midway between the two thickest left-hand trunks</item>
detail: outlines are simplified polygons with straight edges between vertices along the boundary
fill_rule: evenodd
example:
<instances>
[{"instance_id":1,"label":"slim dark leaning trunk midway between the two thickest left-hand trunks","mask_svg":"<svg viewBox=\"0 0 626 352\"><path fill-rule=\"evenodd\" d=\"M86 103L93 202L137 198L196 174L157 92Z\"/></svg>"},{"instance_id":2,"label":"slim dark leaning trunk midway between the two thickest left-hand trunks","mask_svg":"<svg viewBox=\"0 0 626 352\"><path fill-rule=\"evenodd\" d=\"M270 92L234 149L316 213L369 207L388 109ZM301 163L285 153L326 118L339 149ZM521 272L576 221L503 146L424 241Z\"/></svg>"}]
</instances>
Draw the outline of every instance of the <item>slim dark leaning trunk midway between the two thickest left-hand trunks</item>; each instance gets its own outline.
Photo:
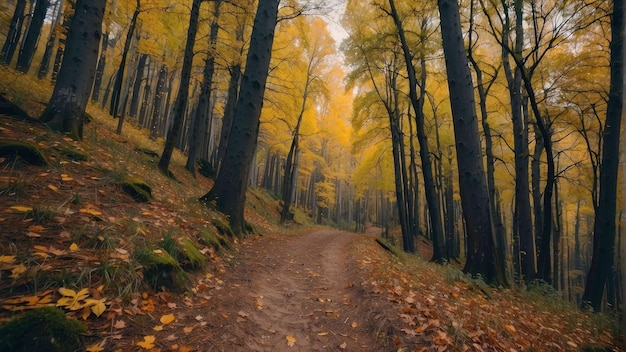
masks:
<instances>
[{"instance_id":1,"label":"slim dark leaning trunk midway between the two thickest left-hand trunks","mask_svg":"<svg viewBox=\"0 0 626 352\"><path fill-rule=\"evenodd\" d=\"M183 58L183 67L180 73L180 83L178 86L178 94L174 102L174 121L167 133L163 153L159 160L159 169L166 175L170 175L169 166L174 152L174 144L179 138L180 131L185 119L187 110L187 98L189 97L189 81L191 80L191 66L193 64L193 45L196 42L196 34L198 32L198 18L200 17L200 4L202 0L193 0L191 6L191 14L189 17L189 28L187 29L187 42L185 44L185 55Z\"/></svg>"}]
</instances>

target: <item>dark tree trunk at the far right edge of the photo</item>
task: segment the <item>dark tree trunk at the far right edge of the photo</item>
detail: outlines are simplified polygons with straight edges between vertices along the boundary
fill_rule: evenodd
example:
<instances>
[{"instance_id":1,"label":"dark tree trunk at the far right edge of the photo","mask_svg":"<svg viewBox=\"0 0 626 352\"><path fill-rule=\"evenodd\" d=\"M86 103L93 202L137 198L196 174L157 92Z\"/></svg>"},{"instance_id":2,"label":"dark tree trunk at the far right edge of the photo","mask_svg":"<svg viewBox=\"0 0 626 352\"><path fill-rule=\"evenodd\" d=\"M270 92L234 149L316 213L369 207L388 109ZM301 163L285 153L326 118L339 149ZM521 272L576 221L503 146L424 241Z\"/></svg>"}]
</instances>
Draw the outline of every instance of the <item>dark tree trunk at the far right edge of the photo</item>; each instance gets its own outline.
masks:
<instances>
[{"instance_id":1,"label":"dark tree trunk at the far right edge of the photo","mask_svg":"<svg viewBox=\"0 0 626 352\"><path fill-rule=\"evenodd\" d=\"M583 305L591 305L596 312L601 309L604 288L613 272L616 233L620 124L624 103L624 2L619 0L613 1L610 48L611 84L602 143L600 198L593 224L593 257L583 294Z\"/></svg>"}]
</instances>

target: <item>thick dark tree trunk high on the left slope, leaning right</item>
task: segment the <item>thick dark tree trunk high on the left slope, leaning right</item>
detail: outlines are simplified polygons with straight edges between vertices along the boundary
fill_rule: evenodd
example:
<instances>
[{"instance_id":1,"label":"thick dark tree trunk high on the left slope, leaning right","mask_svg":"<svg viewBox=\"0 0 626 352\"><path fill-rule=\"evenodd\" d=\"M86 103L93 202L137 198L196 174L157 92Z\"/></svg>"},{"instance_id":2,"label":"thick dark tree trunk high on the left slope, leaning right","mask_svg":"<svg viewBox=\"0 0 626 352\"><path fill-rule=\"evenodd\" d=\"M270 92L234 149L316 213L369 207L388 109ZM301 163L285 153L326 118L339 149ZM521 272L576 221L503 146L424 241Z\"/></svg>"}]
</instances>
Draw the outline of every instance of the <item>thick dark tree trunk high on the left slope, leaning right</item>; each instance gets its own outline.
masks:
<instances>
[{"instance_id":1,"label":"thick dark tree trunk high on the left slope, leaning right","mask_svg":"<svg viewBox=\"0 0 626 352\"><path fill-rule=\"evenodd\" d=\"M105 0L77 1L58 81L41 116L51 129L74 139L83 135L83 115L95 75L105 5Z\"/></svg>"}]
</instances>

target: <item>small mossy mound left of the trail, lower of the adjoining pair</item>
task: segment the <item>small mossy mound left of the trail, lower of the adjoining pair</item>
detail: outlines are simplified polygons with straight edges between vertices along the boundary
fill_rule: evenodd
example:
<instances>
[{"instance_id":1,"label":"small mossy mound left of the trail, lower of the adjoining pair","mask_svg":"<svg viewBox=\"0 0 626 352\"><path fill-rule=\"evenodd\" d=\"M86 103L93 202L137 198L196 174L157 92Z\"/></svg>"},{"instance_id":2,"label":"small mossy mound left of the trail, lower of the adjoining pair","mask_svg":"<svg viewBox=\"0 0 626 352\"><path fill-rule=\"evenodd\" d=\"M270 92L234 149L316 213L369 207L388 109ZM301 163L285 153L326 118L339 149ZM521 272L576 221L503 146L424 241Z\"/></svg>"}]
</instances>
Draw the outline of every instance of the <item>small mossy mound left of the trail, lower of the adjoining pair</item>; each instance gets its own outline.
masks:
<instances>
[{"instance_id":1,"label":"small mossy mound left of the trail, lower of the adjoining pair","mask_svg":"<svg viewBox=\"0 0 626 352\"><path fill-rule=\"evenodd\" d=\"M187 273L164 249L143 248L136 257L143 265L144 280L153 290L158 291L162 287L179 293L187 290Z\"/></svg>"}]
</instances>

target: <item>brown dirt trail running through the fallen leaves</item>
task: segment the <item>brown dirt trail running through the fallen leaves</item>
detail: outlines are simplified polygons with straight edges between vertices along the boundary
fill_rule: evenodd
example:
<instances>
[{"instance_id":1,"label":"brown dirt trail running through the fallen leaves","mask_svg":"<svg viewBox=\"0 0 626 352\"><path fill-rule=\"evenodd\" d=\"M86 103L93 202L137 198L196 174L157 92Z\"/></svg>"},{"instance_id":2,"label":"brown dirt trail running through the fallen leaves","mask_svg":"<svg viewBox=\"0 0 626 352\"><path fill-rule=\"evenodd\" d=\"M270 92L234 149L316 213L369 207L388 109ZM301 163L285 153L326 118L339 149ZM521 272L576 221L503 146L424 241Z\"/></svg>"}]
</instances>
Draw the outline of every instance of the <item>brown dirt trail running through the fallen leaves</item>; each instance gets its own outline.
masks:
<instances>
[{"instance_id":1,"label":"brown dirt trail running through the fallen leaves","mask_svg":"<svg viewBox=\"0 0 626 352\"><path fill-rule=\"evenodd\" d=\"M246 241L194 342L206 351L387 349L375 337L376 304L352 259L359 239L324 229Z\"/></svg>"}]
</instances>

